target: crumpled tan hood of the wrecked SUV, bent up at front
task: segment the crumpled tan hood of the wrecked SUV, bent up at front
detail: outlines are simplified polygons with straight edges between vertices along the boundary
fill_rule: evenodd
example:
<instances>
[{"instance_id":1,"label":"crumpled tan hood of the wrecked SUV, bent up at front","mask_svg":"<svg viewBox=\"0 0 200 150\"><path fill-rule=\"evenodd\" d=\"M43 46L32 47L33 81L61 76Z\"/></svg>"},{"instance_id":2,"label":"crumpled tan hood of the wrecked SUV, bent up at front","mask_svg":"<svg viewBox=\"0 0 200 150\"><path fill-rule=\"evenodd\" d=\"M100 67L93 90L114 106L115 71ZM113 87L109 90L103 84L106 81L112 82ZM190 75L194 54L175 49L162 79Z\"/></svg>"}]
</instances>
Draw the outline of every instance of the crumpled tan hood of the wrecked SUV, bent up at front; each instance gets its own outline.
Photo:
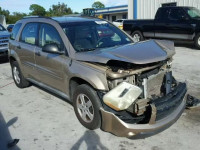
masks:
<instances>
[{"instance_id":1,"label":"crumpled tan hood of the wrecked SUV, bent up at front","mask_svg":"<svg viewBox=\"0 0 200 150\"><path fill-rule=\"evenodd\" d=\"M175 54L174 43L164 40L149 40L136 44L122 45L75 54L75 59L106 64L118 60L134 64L148 64L163 61Z\"/></svg>"}]
</instances>

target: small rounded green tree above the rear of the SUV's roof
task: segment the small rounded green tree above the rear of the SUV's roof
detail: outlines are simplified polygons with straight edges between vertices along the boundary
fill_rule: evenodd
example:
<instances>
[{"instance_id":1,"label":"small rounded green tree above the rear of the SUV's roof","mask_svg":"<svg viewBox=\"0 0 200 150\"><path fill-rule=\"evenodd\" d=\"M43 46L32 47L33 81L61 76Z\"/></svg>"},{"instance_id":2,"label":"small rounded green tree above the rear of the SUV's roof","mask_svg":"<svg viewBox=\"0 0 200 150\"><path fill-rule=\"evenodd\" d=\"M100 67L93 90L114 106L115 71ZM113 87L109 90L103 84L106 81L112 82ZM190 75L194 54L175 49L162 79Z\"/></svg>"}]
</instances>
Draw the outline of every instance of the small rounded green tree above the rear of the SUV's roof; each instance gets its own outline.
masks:
<instances>
[{"instance_id":1,"label":"small rounded green tree above the rear of the SUV's roof","mask_svg":"<svg viewBox=\"0 0 200 150\"><path fill-rule=\"evenodd\" d=\"M44 7L37 4L32 4L29 7L29 9L31 11L30 15L33 15L33 16L45 16L46 14L46 10L44 9Z\"/></svg>"}]
</instances>

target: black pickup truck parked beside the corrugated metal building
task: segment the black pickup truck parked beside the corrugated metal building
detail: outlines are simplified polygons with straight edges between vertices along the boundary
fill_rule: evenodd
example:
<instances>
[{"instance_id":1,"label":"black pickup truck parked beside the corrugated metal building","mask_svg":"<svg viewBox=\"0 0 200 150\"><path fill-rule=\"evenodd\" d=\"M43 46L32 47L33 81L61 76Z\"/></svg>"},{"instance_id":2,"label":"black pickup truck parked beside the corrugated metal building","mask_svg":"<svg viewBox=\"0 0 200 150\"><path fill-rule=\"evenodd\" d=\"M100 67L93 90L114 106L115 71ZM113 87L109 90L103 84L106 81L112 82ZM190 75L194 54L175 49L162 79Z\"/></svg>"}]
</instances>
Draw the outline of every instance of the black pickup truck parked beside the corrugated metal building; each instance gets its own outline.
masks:
<instances>
[{"instance_id":1,"label":"black pickup truck parked beside the corrugated metal building","mask_svg":"<svg viewBox=\"0 0 200 150\"><path fill-rule=\"evenodd\" d=\"M124 20L123 30L134 42L146 38L194 42L200 49L200 10L194 7L161 7L154 20Z\"/></svg>"}]
</instances>

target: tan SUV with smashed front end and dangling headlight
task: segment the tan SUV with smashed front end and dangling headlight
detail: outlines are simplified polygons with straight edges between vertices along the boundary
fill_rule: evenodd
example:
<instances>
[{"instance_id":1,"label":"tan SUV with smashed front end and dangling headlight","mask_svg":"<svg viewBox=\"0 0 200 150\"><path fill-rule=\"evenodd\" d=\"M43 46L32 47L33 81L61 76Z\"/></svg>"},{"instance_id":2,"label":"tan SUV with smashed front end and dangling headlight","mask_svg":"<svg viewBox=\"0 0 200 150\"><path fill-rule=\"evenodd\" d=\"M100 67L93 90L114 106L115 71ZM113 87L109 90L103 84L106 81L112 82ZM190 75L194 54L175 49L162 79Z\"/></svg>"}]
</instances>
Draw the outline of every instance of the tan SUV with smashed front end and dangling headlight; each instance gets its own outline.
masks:
<instances>
[{"instance_id":1,"label":"tan SUV with smashed front end and dangling headlight","mask_svg":"<svg viewBox=\"0 0 200 150\"><path fill-rule=\"evenodd\" d=\"M39 85L69 100L86 128L129 138L161 132L184 111L187 87L172 76L174 54L172 42L134 44L88 17L22 19L9 44L17 87Z\"/></svg>"}]
</instances>

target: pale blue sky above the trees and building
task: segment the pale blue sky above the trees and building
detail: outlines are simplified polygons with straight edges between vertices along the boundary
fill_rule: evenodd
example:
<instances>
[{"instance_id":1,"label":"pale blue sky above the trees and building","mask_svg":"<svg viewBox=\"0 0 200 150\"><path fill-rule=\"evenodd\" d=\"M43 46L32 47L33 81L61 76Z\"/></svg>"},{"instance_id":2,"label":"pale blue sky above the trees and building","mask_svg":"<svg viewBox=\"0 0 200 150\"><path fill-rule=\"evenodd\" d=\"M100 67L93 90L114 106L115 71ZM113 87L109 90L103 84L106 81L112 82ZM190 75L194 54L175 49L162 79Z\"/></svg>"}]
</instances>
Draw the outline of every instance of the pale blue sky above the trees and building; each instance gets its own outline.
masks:
<instances>
[{"instance_id":1,"label":"pale blue sky above the trees and building","mask_svg":"<svg viewBox=\"0 0 200 150\"><path fill-rule=\"evenodd\" d=\"M106 7L124 5L128 0L0 0L0 7L12 12L28 13L31 4L38 4L48 10L58 2L66 3L74 12L82 12L83 8L90 8L94 1L102 2Z\"/></svg>"}]
</instances>

